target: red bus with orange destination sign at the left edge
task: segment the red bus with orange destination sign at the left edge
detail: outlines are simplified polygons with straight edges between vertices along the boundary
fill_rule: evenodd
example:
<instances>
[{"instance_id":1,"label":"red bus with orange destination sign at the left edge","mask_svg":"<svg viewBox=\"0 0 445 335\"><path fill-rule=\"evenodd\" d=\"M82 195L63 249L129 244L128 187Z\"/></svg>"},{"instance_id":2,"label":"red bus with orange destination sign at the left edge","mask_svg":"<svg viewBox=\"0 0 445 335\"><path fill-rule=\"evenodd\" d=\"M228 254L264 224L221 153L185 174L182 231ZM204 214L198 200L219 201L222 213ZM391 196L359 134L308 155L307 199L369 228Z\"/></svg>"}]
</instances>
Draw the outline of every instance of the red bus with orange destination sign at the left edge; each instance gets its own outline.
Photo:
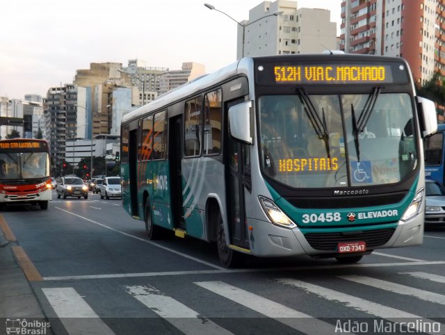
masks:
<instances>
[{"instance_id":1,"label":"red bus with orange destination sign at the left edge","mask_svg":"<svg viewBox=\"0 0 445 335\"><path fill-rule=\"evenodd\" d=\"M0 140L0 209L19 203L47 209L52 188L50 171L46 140Z\"/></svg>"}]
</instances>

